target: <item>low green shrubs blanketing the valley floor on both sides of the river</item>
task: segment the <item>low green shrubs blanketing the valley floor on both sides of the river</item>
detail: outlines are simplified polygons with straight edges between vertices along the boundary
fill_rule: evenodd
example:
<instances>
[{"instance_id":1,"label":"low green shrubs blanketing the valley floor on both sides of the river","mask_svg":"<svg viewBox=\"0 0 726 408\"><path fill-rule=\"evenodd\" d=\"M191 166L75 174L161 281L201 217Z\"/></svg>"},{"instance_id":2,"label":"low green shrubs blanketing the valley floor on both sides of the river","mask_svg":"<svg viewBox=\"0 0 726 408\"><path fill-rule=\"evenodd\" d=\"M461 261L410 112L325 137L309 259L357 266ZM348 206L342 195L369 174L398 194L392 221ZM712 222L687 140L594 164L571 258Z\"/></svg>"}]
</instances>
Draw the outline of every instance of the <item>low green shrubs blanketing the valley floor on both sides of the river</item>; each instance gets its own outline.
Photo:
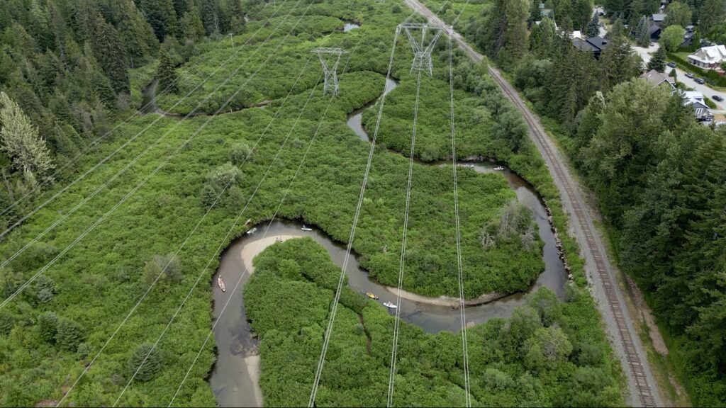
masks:
<instances>
[{"instance_id":1,"label":"low green shrubs blanketing the valley floor on both sides of the river","mask_svg":"<svg viewBox=\"0 0 726 408\"><path fill-rule=\"evenodd\" d=\"M292 6L280 4L278 7L282 8L281 12L287 12ZM370 20L375 7L380 7L380 13ZM265 13L271 12L262 12L263 17L269 15ZM340 74L340 96L332 105L325 122L320 125L320 134L310 151L306 166L303 166L295 180L279 214L281 218L303 219L315 224L334 240L343 241L348 237L360 175L363 174L370 146L346 126L346 115L380 94L384 80L378 73L386 70L393 28L408 12L397 4L374 6L364 1L333 0L332 3L315 4L310 14L355 19L364 24L348 33L322 34L307 28L307 31L297 33L288 44L289 47L285 45L280 48L280 57L271 61L276 69L269 72L263 70L264 74L258 81L250 82L247 90L252 97L269 93L265 99L274 99L274 95L283 94L289 89L290 76L294 78L301 70L310 49L315 46L351 47L359 36L365 36L360 49L351 55L348 71ZM261 21L250 21L246 32L253 32L253 28L260 24ZM310 27L314 28L312 25ZM275 41L269 44L253 44L250 49L259 46L261 54L264 54L272 50L280 38L275 37ZM393 66L393 77L401 79L401 86L391 92L386 102L383 118L386 128L382 128L380 134L383 144L375 152L360 230L354 242L354 249L362 254L361 265L364 269L371 271L379 282L393 285L397 277L402 224L400 208L404 200L399 187L404 185L407 160L401 154L388 152L385 147L398 146L400 141L397 138L407 134L412 119L412 98L407 91L411 89L413 81L407 75L412 54L404 40L401 38L398 44L398 57ZM203 47L204 52L200 56L203 61L188 79L189 83L193 83L192 86L199 83L199 78L204 77L203 73L211 73L214 67L219 66L222 57L229 55L231 41L220 39L219 42L224 43L219 48L214 47L215 43ZM240 43L235 44L239 46ZM250 50L245 49L242 54L246 52ZM444 52L441 44L434 52L437 57ZM497 86L482 68L464 60L460 52L454 52L456 114L462 138L462 158L469 155L494 157L508 163L513 171L531 181L538 189L546 188L543 186L551 184L551 181L548 181L542 159L526 139L526 127L521 117L512 107L507 107ZM240 62L235 61L236 64ZM250 61L250 68L259 63L259 60ZM181 66L183 68L184 65ZM148 73L142 70L132 73L132 77L145 78ZM229 67L225 70L226 73L232 72ZM137 357L150 349L199 274L213 274L219 262L219 240L225 236L227 228L258 183L261 183L261 187L250 202L244 219L249 218L253 220L252 224L256 224L259 220L269 219L274 212L282 197L282 189L294 174L301 153L311 142L327 105L327 99L318 87L309 105L302 111L300 122L292 128L319 73L319 65L311 63L303 72L305 81L301 81L298 89L293 90L274 125L254 148L255 141L262 135L281 102L273 102L264 110L240 110L214 118L184 150L170 158L163 170L152 177L144 188L135 192L131 200L0 311L1 405L28 406L38 401L60 400L64 390L68 390L69 382L83 372L105 340L115 332L121 323L120 315L130 310L154 278L160 275L161 279L152 287L146 300L91 366L83 382L68 396L68 402L77 406L110 405L115 401L126 380L140 364ZM280 81L279 86L275 85L282 78L286 79ZM428 130L421 138L419 147L422 150L419 154L429 160L445 158L447 154L447 148L441 144L441 140L449 137L448 110L446 104L441 104L441 94L433 89L445 85L445 78L444 65L436 62L433 78L425 80L425 89L431 91L422 94L420 118L427 118L422 121L422 126ZM242 76L233 78L228 83L229 88L217 95L219 99L215 97L209 101L203 110L221 106L221 101L232 94L232 87L241 86L244 81ZM210 81L210 84L215 82L219 84L219 78ZM443 100L448 101L448 97ZM190 101L200 102L200 98ZM160 105L168 106L164 103ZM364 114L364 121L370 120L367 116L370 113ZM86 171L94 166L103 155L112 152L155 118L155 115L147 115L122 124L113 138L97 146L95 155L83 158L78 171ZM65 214L78 200L101 186L158 136L171 131L166 139L133 166L133 171L122 174L107 190L89 201L83 211L70 214L68 220L52 234L31 245L29 250L3 269L0 291L7 297L46 262L57 256L95 219L113 208L131 186L167 158L169 152L174 151L206 119L189 118L179 123L174 118L160 118L152 131L142 134L129 144L118 158L105 163L99 171L90 174L67 194L9 234L7 240L0 243L0 253L6 257L32 240L38 231L57 219L59 213ZM262 175L288 133L291 134L290 140L274 166L272 176L262 181ZM403 155L407 153L402 148L397 150ZM249 160L242 160L248 155ZM404 287L434 297L455 295L456 279L449 278L455 276L451 268L455 258L453 245L441 245L441 242L454 240L451 226L451 168L416 164L414 174L412 202L415 205L412 206L412 229L409 230L412 246L408 249L410 263ZM531 225L529 222L522 222L517 229L505 231L498 237L494 248L481 250L482 232L493 233L497 229L502 211L513 200L514 193L502 176L497 174L476 174L462 168L459 176L466 296L474 298L481 293L514 292L529 287L533 277L542 270L542 243L537 241L535 245L529 246L521 240L521 232L527 231ZM230 179L233 181L232 187L221 195L221 200L212 208L208 219L200 224L189 240L189 245L179 252L175 261L171 261L169 265L172 267L165 269L172 259L169 254L179 248L182 237L195 228L195 223L208 210L210 197L222 192ZM47 194L52 194L62 185L55 186ZM558 221L558 205L546 192L542 195L552 205L555 224L561 222ZM512 211L508 214L516 219L531 219L522 216L516 208ZM563 227L558 228L564 230ZM221 248L225 248L244 231L245 227L241 226L233 231L228 242L222 242L226 245ZM529 248L525 248L527 246ZM274 247L272 245L270 248ZM565 247L567 250L566 241ZM302 255L318 253L312 247L305 249ZM209 268L205 269L210 257ZM294 257L290 260L298 264L305 261ZM572 260L569 261L573 264ZM282 270L299 277L295 272L299 269L288 264L290 268ZM325 266L328 268L330 263L321 261L321 265L328 265ZM280 270L262 274L262 277L256 273L250 278L250 282L261 282L258 290L285 289L292 285L294 290L285 292L285 295L302 302L286 302L282 301L285 298L276 298L280 301L269 304L265 302L270 299L263 297L256 306L261 309L251 312L259 313L253 321L257 319L256 331L264 338L260 385L265 391L266 404L298 404L297 400L287 401L285 396L276 393L284 392L296 399L309 391L311 377L306 377L307 380L303 380L303 377L310 367L312 354L309 351L316 347L314 342L322 338L320 323L324 322L330 306L330 282L327 280L333 275L331 270L319 269L317 266L306 269L306 273L319 274L320 279L325 278L325 282L290 283L281 278L280 286L267 285L267 279L277 282L273 275L280 273ZM337 273L338 268L335 270ZM571 287L572 293L566 303L559 303L556 299L552 301L551 295L540 290L534 298L541 298L542 302L519 312L521 315L518 317L494 319L472 330L473 339L481 347L476 348L476 354L470 356L470 359L479 364L474 372L478 378L484 379L476 384L473 391L478 401L494 405L524 404L528 401L531 404L552 405L622 403L619 364L616 364L597 320L592 298L582 288L583 281L584 277L575 274L575 282L579 287ZM204 276L201 282L205 282ZM298 288L303 292L298 292ZM306 298L298 299L308 292L309 301ZM344 404L356 398L378 403L378 396L385 392L385 384L355 378L354 375L366 374L369 368L371 373L383 375L383 364L379 362L386 360L388 355L390 344L386 336L391 331L391 321L380 306L367 306L355 293L346 296L349 298L344 297L343 302L346 302L346 308L349 306L352 309L346 309L340 314L344 329L339 334L343 338L336 337L333 341L333 344L340 345L336 346L340 354L330 354L331 358L336 355L341 358L326 363L326 370L330 368L332 372L338 372L340 378L346 378L349 370L354 370L354 373L346 380L346 385L329 383L328 374L325 374L325 386L321 388L319 396L321 401L330 404ZM148 371L148 375L143 378L136 378L119 404L168 404L208 335L212 321L210 305L209 287L200 285L192 292L179 316L158 343L158 359L154 359L153 370ZM274 328L266 327L262 320L267 319L266 313L272 310L266 308L282 308L285 316L280 311L281 318L295 320L298 331L275 331ZM310 313L301 314L303 309L309 309ZM288 316L287 311L294 311L294 315ZM360 323L356 311L364 311L360 315L364 318L364 325ZM551 316L550 311L554 313ZM283 327L285 325L281 325ZM513 327L521 327L522 331L517 334L516 330L519 329ZM410 388L401 388L401 404L460 403L462 395L457 384L461 383L461 378L457 378L459 374L455 373L459 357L446 354L439 358L436 353L442 348L452 352L456 350L454 344L460 343L457 343L457 335L450 332L442 332L437 336L425 335L409 326L401 335L402 339L405 338L402 340L405 347L412 353L420 354L423 359L415 362L407 360L403 364L404 368L410 364L412 371L401 370L401 375L407 377L410 385ZM370 348L367 348L367 338L370 338ZM353 343L348 343L348 340ZM295 354L295 347L298 346L310 348L298 355ZM561 351L552 359L539 353L550 346ZM290 354L275 353L274 350L290 351ZM361 361L362 365L358 364ZM190 406L214 404L213 393L205 380L213 362L214 344L210 342L189 372L175 403ZM427 364L437 367L434 378L427 377ZM271 367L280 367L280 370L272 370ZM287 379L299 375L301 383L275 378L276 374L286 375ZM431 399L417 400L418 389L432 390L435 395Z\"/></svg>"}]
</instances>

